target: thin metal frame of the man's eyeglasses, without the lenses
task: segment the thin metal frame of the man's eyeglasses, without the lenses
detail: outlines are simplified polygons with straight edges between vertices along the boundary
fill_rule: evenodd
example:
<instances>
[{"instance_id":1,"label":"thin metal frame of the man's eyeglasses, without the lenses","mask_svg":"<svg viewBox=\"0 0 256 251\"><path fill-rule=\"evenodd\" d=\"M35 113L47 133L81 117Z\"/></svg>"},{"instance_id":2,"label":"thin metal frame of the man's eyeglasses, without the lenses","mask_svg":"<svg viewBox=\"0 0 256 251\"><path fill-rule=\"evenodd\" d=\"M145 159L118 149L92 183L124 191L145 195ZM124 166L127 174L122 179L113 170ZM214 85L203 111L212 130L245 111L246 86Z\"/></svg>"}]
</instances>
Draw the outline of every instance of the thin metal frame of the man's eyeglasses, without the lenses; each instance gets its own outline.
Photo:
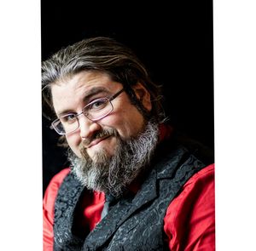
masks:
<instances>
[{"instance_id":1,"label":"thin metal frame of the man's eyeglasses, without the lenses","mask_svg":"<svg viewBox=\"0 0 256 251\"><path fill-rule=\"evenodd\" d=\"M77 122L78 122L78 125L79 125L78 128L80 127L79 118L78 118L78 117L79 117L80 115L84 114L84 109L85 109L87 106L90 106L91 104L93 104L93 103L96 102L97 100L101 100L101 99L106 99L106 100L108 100L108 102L109 102L110 105L112 106L112 109L111 109L111 111L108 111L107 114L103 115L102 117L98 117L98 118L92 119L92 118L90 118L90 117L87 117L87 116L84 114L84 117L88 118L90 121L96 122L96 121L98 121L98 120L101 120L102 118L107 117L107 116L113 111L113 104L111 103L111 101L114 100L117 96L119 96L119 94L121 94L121 93L124 92L124 91L125 91L125 88L122 88L122 89L120 89L116 94L113 94L113 96L111 96L110 98L104 97L104 98L96 99L96 100L93 100L93 101L91 101L90 103L88 103L86 106L84 106L83 109L82 109L82 111L81 111L80 113L78 113L78 114L75 114L74 117L73 117L73 118L76 119ZM69 115L69 113L66 114L66 115L63 115L63 116L61 116L61 117L65 117L65 116L67 116L67 115ZM50 125L50 127L49 127L49 128L51 128L51 129L55 129L55 132L56 132L57 134L60 134L60 135L73 134L73 132L75 132L75 131L78 129L78 128L76 128L76 129L74 129L72 132L65 133L65 134L60 133L60 132L58 131L58 129L55 127L55 125L54 125L57 121L59 121L59 123L61 123L61 119L58 117L58 118L56 118L56 119L51 123L51 125Z\"/></svg>"}]
</instances>

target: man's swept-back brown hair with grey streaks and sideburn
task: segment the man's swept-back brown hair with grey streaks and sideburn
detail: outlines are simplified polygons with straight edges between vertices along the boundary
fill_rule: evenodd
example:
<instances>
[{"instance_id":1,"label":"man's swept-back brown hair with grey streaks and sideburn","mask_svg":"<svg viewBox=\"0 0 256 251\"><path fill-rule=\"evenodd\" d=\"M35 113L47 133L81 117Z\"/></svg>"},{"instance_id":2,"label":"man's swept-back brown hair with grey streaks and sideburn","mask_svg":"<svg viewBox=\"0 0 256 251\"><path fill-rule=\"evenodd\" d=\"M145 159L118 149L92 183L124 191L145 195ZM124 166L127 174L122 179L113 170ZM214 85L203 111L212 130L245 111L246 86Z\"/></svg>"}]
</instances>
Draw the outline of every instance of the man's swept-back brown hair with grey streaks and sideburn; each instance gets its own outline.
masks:
<instances>
[{"instance_id":1,"label":"man's swept-back brown hair with grey streaks and sideburn","mask_svg":"<svg viewBox=\"0 0 256 251\"><path fill-rule=\"evenodd\" d=\"M110 37L92 37L61 48L49 60L42 63L43 113L46 117L55 115L51 97L51 85L73 77L80 71L102 71L115 82L122 83L125 92L138 109L146 113L137 100L132 86L142 83L147 88L152 102L150 117L160 122L165 119L161 106L160 86L152 82L143 63L131 48Z\"/></svg>"}]
</instances>

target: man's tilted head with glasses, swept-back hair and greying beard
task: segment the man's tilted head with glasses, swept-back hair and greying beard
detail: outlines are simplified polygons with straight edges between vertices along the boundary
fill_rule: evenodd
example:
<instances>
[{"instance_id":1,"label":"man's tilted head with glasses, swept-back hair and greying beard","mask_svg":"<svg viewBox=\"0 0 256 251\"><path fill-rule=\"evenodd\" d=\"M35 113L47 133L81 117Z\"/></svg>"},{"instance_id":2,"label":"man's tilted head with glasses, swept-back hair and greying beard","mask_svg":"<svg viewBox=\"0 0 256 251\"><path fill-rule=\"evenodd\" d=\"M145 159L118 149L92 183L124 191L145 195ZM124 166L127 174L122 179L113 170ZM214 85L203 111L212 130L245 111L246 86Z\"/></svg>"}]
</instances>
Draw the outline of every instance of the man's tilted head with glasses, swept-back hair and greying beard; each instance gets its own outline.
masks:
<instances>
[{"instance_id":1,"label":"man's tilted head with glasses, swept-back hair and greying beard","mask_svg":"<svg viewBox=\"0 0 256 251\"><path fill-rule=\"evenodd\" d=\"M44 100L74 172L89 188L119 196L154 152L159 88L129 48L106 37L61 49L42 68Z\"/></svg>"}]
</instances>

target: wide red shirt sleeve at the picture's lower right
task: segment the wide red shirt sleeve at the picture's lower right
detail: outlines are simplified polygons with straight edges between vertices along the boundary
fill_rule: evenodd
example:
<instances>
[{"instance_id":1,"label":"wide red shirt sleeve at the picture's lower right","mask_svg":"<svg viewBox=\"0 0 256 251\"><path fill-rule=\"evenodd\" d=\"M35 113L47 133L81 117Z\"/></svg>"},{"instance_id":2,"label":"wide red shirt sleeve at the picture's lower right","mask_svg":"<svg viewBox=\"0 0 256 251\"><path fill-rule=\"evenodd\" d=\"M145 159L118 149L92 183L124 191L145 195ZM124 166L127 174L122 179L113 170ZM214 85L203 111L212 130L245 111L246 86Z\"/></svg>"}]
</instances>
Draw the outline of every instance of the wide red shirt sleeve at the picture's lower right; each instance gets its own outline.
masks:
<instances>
[{"instance_id":1,"label":"wide red shirt sleeve at the picture's lower right","mask_svg":"<svg viewBox=\"0 0 256 251\"><path fill-rule=\"evenodd\" d=\"M172 251L215 250L214 164L183 185L167 208L164 222Z\"/></svg>"}]
</instances>

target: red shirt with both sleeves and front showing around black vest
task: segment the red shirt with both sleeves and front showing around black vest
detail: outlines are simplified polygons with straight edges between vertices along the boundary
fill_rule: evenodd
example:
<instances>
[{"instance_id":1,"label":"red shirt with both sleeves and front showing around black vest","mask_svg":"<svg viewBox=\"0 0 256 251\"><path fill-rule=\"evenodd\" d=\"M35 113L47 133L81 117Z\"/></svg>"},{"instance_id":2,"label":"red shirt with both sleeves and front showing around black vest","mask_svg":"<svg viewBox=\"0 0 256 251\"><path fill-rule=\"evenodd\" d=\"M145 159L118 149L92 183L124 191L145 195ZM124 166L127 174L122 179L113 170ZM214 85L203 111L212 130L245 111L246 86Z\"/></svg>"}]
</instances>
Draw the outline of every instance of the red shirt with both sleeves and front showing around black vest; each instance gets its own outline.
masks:
<instances>
[{"instance_id":1,"label":"red shirt with both sleeves and front showing around black vest","mask_svg":"<svg viewBox=\"0 0 256 251\"><path fill-rule=\"evenodd\" d=\"M53 250L55 197L62 180L70 172L63 169L50 181L44 194L44 251ZM201 169L183 185L172 200L164 218L164 231L172 251L215 250L214 164ZM102 192L85 194L80 208L79 228L94 229L101 220L105 196Z\"/></svg>"}]
</instances>

